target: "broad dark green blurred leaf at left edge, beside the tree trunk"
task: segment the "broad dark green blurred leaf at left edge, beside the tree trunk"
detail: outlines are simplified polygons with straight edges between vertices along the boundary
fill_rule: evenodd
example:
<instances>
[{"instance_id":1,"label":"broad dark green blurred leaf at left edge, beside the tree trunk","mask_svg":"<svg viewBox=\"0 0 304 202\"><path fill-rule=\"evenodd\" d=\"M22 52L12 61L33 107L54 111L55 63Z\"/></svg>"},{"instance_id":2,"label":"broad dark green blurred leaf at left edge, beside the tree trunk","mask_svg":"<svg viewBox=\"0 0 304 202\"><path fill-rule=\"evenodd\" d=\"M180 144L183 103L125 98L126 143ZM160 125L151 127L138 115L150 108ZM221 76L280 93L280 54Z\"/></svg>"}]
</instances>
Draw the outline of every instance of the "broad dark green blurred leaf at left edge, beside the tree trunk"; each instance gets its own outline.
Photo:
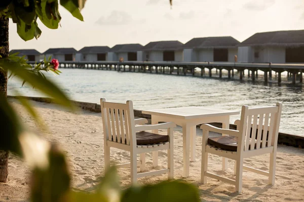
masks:
<instances>
[{"instance_id":1,"label":"broad dark green blurred leaf at left edge, beside the tree trunk","mask_svg":"<svg viewBox=\"0 0 304 202\"><path fill-rule=\"evenodd\" d=\"M8 103L7 98L0 93L0 149L10 150L21 155L21 145L18 136L22 132L23 126L18 117Z\"/></svg>"}]
</instances>

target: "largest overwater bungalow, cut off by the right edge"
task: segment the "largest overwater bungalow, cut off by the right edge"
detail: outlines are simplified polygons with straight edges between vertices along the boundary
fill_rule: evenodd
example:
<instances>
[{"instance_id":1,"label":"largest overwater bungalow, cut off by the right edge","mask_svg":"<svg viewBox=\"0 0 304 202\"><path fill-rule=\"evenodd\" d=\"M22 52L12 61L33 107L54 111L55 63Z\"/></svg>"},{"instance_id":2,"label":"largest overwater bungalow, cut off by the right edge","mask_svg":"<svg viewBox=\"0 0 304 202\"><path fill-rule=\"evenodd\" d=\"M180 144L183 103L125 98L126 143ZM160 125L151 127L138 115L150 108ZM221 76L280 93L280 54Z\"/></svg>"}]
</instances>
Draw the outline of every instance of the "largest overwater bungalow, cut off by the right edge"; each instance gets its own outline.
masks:
<instances>
[{"instance_id":1,"label":"largest overwater bungalow, cut off by the right edge","mask_svg":"<svg viewBox=\"0 0 304 202\"><path fill-rule=\"evenodd\" d=\"M238 49L242 63L304 63L304 30L256 33Z\"/></svg>"}]
</instances>

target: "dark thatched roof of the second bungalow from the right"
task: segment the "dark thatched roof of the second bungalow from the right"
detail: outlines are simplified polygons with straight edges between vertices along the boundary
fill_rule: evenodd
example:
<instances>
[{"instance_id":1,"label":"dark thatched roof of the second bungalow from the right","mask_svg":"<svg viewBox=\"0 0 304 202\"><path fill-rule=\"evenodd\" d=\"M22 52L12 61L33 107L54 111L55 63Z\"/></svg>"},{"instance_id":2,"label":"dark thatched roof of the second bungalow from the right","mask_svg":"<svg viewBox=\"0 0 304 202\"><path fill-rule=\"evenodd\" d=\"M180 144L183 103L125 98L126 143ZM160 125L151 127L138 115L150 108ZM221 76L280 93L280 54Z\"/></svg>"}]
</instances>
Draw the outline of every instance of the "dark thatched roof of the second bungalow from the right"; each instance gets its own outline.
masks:
<instances>
[{"instance_id":1,"label":"dark thatched roof of the second bungalow from the right","mask_svg":"<svg viewBox=\"0 0 304 202\"><path fill-rule=\"evenodd\" d=\"M240 41L231 36L215 36L193 38L183 45L183 48L229 48L236 47Z\"/></svg>"}]
</instances>

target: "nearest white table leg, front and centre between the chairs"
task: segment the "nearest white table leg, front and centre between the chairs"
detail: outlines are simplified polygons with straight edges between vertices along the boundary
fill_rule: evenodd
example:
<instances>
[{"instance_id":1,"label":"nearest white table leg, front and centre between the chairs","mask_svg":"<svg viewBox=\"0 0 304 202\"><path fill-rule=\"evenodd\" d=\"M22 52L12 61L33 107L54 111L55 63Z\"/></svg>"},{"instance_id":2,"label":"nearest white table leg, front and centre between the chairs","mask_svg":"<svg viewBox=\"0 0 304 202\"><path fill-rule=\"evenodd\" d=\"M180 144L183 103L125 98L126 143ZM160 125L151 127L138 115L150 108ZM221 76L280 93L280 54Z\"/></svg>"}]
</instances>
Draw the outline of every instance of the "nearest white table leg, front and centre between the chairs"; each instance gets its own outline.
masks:
<instances>
[{"instance_id":1,"label":"nearest white table leg, front and centre between the chairs","mask_svg":"<svg viewBox=\"0 0 304 202\"><path fill-rule=\"evenodd\" d=\"M183 177L189 176L190 166L190 127L182 127L182 146L183 146Z\"/></svg>"}]
</instances>

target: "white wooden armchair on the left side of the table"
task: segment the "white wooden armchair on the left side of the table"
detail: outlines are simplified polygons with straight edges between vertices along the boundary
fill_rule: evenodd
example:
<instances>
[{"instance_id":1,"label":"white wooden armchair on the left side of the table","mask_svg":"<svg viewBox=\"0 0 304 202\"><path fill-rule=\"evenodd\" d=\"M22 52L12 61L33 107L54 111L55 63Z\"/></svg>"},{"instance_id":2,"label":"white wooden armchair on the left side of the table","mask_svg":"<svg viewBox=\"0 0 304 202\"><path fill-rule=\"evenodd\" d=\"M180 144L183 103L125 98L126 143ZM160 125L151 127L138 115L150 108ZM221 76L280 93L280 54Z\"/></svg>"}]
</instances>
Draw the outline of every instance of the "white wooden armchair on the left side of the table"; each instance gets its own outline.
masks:
<instances>
[{"instance_id":1,"label":"white wooden armchair on the left side of the table","mask_svg":"<svg viewBox=\"0 0 304 202\"><path fill-rule=\"evenodd\" d=\"M131 163L116 165L117 168L131 167L131 183L136 183L137 178L168 173L168 179L174 176L173 165L173 128L174 123L162 123L156 125L145 124L146 119L134 120L132 101L126 104L105 102L100 99L101 116L104 135L104 164L105 169L110 167L110 147L130 151ZM167 129L168 135L159 135L146 132L146 130ZM145 153L156 150L168 150L168 168L151 172L137 173L137 165L140 171L145 170ZM137 154L140 154L140 162L137 162Z\"/></svg>"}]
</instances>

